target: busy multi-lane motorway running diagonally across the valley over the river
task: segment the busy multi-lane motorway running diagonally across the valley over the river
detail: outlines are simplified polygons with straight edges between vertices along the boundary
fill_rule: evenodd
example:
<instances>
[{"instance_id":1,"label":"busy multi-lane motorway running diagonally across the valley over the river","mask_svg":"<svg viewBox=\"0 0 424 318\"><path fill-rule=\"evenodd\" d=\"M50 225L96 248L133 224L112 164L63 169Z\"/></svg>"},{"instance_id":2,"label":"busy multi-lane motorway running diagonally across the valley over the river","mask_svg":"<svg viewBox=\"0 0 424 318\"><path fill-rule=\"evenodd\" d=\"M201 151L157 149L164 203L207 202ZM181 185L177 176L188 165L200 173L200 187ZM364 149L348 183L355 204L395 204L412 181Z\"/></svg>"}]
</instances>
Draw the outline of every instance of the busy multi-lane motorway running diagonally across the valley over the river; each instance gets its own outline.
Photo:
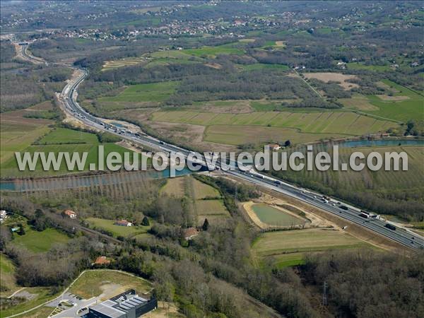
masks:
<instances>
[{"instance_id":1,"label":"busy multi-lane motorway running diagonally across the valley over the river","mask_svg":"<svg viewBox=\"0 0 424 318\"><path fill-rule=\"evenodd\" d=\"M84 81L84 79L88 76L88 71L84 69L78 70L81 71L81 76L78 77L75 81L70 81L61 92L61 99L64 101L65 111L68 112L68 114L76 117L76 119L79 119L87 126L100 129L101 131L108 131L111 134L121 136L123 139L127 139L134 143L139 143L149 148L165 151L167 153L179 152L184 154L186 158L189 153L192 153L192 151L172 145L170 143L165 143L164 141L160 141L153 136L148 136L143 133L135 133L133 131L122 129L122 127L114 126L111 123L107 123L105 119L95 117L92 114L86 112L86 110L84 110L76 101L76 90L82 81ZM193 162L207 166L205 158L202 158L201 160L193 160ZM220 164L219 162L217 163ZM412 249L424 249L424 237L421 237L420 235L417 235L416 233L404 228L396 227L395 230L389 229L387 228L387 225L389 224L388 226L390 226L391 223L387 223L384 220L379 220L378 218L364 218L363 216L360 216L359 208L346 203L341 203L336 199L324 198L322 194L318 194L317 192L312 192L307 189L300 189L281 180L271 178L266 175L261 175L259 172L254 170L249 172L243 172L241 170L225 171L229 166L224 164L221 164L220 166L221 171L225 174L238 177L245 180L246 182L265 187L266 189L271 189L273 191L303 201L307 204L310 204L311 206L321 208L324 211L333 213L336 216L346 219L352 223L363 226L363 228L377 232L379 235L383 235L384 237L388 237L391 240L399 242L401 245L405 245L406 247L411 247ZM341 208L341 206L343 206L343 208ZM346 225L348 225L348 223Z\"/></svg>"}]
</instances>

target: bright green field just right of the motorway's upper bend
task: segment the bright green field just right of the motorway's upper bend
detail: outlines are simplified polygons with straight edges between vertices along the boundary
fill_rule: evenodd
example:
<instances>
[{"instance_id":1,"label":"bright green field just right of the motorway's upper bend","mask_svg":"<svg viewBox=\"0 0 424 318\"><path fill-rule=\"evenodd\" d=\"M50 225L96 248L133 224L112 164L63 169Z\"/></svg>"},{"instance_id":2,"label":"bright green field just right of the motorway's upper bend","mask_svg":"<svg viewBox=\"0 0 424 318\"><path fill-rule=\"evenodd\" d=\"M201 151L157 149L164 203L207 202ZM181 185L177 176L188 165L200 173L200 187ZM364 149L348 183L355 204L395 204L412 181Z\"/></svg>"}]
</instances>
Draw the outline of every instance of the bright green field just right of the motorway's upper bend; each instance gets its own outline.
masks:
<instances>
[{"instance_id":1,"label":"bright green field just right of the motorway's upper bend","mask_svg":"<svg viewBox=\"0 0 424 318\"><path fill-rule=\"evenodd\" d=\"M100 102L163 102L179 85L177 81L131 85L113 97L99 98Z\"/></svg>"}]
</instances>

